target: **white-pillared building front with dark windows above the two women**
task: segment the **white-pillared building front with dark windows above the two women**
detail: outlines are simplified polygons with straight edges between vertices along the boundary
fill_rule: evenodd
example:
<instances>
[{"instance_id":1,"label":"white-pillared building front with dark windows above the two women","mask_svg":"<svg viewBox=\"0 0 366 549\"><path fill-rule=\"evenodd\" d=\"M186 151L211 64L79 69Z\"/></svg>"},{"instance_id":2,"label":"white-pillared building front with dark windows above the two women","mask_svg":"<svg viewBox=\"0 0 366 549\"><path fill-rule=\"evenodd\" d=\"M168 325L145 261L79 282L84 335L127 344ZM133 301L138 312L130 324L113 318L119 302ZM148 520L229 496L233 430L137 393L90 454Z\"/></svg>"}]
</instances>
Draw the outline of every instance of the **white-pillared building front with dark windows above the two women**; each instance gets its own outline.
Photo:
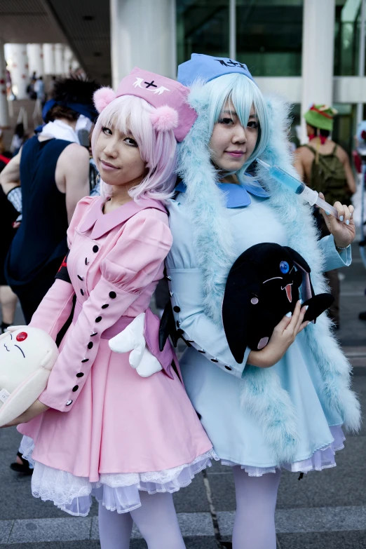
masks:
<instances>
[{"instance_id":1,"label":"white-pillared building front with dark windows above the two women","mask_svg":"<svg viewBox=\"0 0 366 549\"><path fill-rule=\"evenodd\" d=\"M332 104L350 150L364 117L366 0L111 0L113 83L135 65L175 78L191 53L248 65L264 93ZM122 52L122 53L121 53ZM302 135L304 140L304 133Z\"/></svg>"}]
</instances>

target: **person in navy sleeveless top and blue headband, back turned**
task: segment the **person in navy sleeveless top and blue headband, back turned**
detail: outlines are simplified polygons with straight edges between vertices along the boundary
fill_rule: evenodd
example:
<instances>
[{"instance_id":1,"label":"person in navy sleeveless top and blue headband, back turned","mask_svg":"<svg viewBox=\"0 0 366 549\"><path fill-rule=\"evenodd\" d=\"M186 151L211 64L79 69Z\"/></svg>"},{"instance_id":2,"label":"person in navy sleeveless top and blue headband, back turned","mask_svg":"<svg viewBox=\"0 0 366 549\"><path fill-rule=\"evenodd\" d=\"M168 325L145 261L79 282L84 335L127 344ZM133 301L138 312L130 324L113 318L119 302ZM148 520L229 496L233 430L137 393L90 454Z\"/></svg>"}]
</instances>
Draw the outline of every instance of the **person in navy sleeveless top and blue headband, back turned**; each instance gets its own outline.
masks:
<instances>
[{"instance_id":1,"label":"person in navy sleeveless top and blue headband, back turned","mask_svg":"<svg viewBox=\"0 0 366 549\"><path fill-rule=\"evenodd\" d=\"M57 81L53 99L43 109L46 126L1 174L10 200L18 186L15 182L21 182L22 222L6 258L5 273L20 299L26 323L67 253L66 231L76 203L89 194L88 149L79 144L78 130L90 130L97 116L92 97L98 87L79 79Z\"/></svg>"}]
</instances>

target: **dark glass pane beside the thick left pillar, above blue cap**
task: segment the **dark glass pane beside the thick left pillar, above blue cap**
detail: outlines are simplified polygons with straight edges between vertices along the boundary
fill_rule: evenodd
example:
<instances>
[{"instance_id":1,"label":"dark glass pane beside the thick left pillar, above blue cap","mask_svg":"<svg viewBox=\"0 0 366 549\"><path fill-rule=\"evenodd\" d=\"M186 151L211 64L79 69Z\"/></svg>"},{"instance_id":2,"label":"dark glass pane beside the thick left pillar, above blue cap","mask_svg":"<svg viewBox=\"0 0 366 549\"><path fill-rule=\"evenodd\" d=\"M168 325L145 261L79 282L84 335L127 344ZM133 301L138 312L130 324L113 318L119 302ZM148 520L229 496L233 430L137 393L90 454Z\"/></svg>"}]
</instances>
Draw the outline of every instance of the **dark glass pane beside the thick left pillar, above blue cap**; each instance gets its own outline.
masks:
<instances>
[{"instance_id":1,"label":"dark glass pane beside the thick left pillar, above blue cap","mask_svg":"<svg viewBox=\"0 0 366 549\"><path fill-rule=\"evenodd\" d=\"M177 0L177 61L229 57L229 0Z\"/></svg>"}]
</instances>

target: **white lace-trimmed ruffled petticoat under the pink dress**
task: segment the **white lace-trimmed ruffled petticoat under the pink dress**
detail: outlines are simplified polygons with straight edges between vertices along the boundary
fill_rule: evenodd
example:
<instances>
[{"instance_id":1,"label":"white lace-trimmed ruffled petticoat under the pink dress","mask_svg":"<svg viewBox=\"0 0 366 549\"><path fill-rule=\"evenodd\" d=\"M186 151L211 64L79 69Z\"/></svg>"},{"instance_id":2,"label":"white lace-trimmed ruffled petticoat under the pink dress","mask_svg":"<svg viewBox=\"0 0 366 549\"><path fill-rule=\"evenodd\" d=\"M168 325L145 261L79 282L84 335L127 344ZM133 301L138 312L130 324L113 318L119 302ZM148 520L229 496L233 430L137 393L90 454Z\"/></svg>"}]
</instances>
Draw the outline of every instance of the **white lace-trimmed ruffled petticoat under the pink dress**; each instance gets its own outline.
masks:
<instances>
[{"instance_id":1,"label":"white lace-trimmed ruffled petticoat under the pink dress","mask_svg":"<svg viewBox=\"0 0 366 549\"><path fill-rule=\"evenodd\" d=\"M53 467L32 461L33 440L23 437L20 452L34 463L32 494L43 501L53 501L55 506L75 517L86 517L95 496L98 503L117 513L128 513L141 506L140 490L149 494L177 492L188 486L194 475L211 466L211 459L218 459L210 450L198 456L192 463L151 473L111 473L100 475L99 482L86 477L76 477Z\"/></svg>"}]
</instances>

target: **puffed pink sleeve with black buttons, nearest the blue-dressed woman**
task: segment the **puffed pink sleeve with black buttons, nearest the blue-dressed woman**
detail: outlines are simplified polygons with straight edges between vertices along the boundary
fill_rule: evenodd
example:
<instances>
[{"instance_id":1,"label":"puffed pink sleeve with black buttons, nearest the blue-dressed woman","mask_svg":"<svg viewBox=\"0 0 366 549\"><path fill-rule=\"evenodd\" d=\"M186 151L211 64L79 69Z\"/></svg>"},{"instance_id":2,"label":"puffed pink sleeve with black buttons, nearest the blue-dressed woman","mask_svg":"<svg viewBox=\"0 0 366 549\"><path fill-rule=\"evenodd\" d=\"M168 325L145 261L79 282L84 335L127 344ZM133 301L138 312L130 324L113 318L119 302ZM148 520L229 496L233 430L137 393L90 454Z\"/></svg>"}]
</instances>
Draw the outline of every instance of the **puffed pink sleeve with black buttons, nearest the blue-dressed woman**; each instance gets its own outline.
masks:
<instances>
[{"instance_id":1,"label":"puffed pink sleeve with black buttons, nearest the blue-dressed woman","mask_svg":"<svg viewBox=\"0 0 366 549\"><path fill-rule=\"evenodd\" d=\"M164 221L163 221L164 219ZM158 279L172 245L167 217L142 210L127 223L115 247L101 264L102 277L69 332L67 342L39 400L67 412L72 408L93 365L104 330L123 316L133 301ZM151 285L151 293L154 285Z\"/></svg>"}]
</instances>

